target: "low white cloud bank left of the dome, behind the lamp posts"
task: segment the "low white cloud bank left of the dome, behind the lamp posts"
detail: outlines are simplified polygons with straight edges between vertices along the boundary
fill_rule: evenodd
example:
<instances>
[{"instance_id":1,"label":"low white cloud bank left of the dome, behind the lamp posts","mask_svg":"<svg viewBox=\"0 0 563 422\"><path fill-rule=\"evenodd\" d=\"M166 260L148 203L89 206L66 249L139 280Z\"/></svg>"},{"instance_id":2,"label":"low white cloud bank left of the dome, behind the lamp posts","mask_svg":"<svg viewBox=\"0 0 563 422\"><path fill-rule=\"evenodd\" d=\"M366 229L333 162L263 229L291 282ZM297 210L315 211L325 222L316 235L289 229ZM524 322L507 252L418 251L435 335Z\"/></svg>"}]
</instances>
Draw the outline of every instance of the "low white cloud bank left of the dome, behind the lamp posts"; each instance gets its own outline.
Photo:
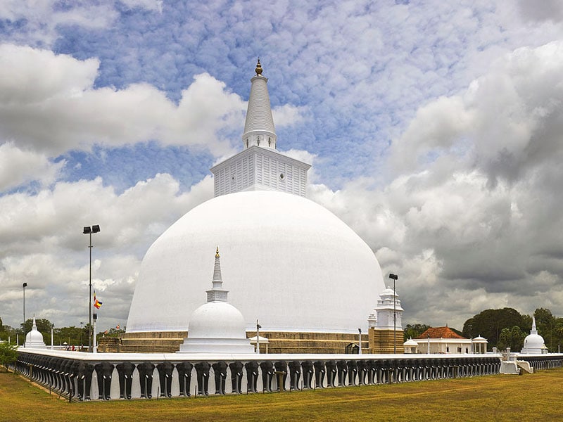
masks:
<instances>
[{"instance_id":1,"label":"low white cloud bank left of the dome, behind the lamp posts","mask_svg":"<svg viewBox=\"0 0 563 422\"><path fill-rule=\"evenodd\" d=\"M125 324L139 264L148 247L176 219L212 197L211 177L180 193L178 181L168 174L140 181L120 195L96 179L58 182L37 195L1 196L4 323L19 321L20 289L25 281L30 313L50 317L49 309L55 306L61 309L53 316L56 324L78 325L81 315L87 315L88 301L88 238L82 226L99 224L101 231L92 236L92 285L101 293L106 324Z\"/></svg>"}]
</instances>

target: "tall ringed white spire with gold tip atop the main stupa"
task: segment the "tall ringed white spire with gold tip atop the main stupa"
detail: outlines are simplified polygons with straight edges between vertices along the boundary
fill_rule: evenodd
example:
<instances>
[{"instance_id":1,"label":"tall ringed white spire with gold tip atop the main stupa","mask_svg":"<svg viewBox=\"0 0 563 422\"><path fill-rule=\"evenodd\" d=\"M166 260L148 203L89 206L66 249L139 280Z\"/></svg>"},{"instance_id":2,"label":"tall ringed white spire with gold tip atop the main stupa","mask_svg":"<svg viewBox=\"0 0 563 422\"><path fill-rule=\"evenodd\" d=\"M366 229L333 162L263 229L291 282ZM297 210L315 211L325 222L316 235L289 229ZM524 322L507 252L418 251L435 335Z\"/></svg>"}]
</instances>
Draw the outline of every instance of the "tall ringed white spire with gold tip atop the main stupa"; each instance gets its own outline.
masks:
<instances>
[{"instance_id":1,"label":"tall ringed white spire with gold tip atop the main stupa","mask_svg":"<svg viewBox=\"0 0 563 422\"><path fill-rule=\"evenodd\" d=\"M248 98L246 122L242 135L243 148L261 146L276 149L276 129L272 117L270 94L268 94L268 79L262 76L260 58L254 70L256 76L251 79L251 95Z\"/></svg>"}]
</instances>

